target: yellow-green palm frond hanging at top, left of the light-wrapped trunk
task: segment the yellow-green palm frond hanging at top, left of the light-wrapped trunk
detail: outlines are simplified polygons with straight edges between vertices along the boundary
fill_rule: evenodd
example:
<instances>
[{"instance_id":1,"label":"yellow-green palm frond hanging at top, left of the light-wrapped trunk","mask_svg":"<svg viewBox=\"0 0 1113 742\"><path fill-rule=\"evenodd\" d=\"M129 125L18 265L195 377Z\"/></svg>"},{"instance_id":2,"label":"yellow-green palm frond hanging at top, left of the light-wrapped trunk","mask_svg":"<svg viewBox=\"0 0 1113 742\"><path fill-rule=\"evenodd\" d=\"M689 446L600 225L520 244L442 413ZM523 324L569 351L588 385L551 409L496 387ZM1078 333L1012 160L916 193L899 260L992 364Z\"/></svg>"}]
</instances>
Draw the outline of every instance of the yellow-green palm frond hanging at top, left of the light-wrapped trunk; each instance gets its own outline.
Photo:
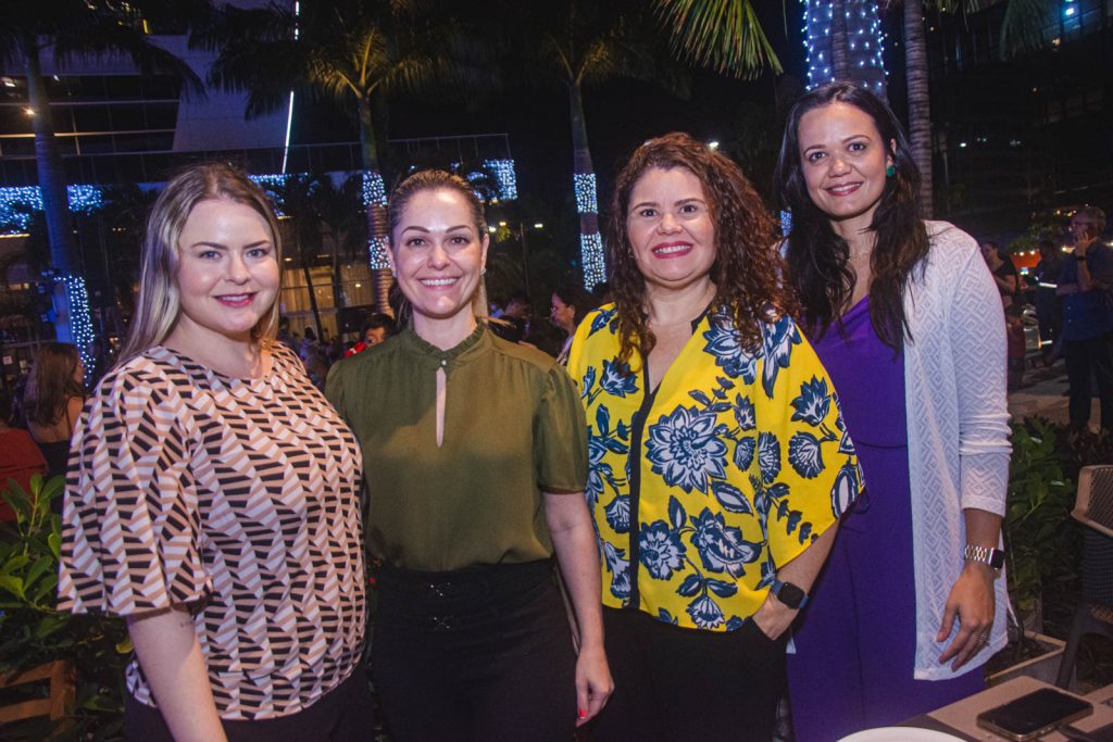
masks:
<instances>
[{"instance_id":1,"label":"yellow-green palm frond hanging at top, left of the light-wrapped trunk","mask_svg":"<svg viewBox=\"0 0 1113 742\"><path fill-rule=\"evenodd\" d=\"M736 78L766 67L781 72L750 0L656 0L657 14L680 59Z\"/></svg>"}]
</instances>

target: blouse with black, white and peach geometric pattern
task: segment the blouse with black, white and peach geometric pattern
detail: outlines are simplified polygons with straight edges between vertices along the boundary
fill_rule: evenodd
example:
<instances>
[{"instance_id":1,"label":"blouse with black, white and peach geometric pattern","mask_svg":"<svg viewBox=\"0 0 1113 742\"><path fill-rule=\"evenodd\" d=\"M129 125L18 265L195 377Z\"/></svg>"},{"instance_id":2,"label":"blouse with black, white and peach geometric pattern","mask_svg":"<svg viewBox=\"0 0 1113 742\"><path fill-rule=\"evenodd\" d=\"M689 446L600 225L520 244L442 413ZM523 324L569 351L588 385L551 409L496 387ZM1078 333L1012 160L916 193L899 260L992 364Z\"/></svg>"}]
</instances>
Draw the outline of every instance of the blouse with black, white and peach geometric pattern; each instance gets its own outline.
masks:
<instances>
[{"instance_id":1,"label":"blouse with black, white and peach geometric pattern","mask_svg":"<svg viewBox=\"0 0 1113 742\"><path fill-rule=\"evenodd\" d=\"M285 346L230 378L158 346L78 422L59 609L194 617L223 719L283 716L346 680L364 640L355 437ZM132 657L128 691L156 705Z\"/></svg>"}]
</instances>

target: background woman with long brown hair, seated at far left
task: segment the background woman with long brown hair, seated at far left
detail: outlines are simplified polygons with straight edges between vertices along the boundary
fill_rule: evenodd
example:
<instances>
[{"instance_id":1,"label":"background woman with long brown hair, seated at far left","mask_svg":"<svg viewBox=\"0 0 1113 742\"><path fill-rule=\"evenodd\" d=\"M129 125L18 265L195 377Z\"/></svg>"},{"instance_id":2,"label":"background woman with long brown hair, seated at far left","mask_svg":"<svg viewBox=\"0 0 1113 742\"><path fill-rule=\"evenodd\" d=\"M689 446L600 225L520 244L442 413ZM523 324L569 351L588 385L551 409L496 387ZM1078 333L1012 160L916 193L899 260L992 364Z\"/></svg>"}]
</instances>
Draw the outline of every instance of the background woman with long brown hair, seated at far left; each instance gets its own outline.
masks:
<instances>
[{"instance_id":1,"label":"background woman with long brown hair, seated at far left","mask_svg":"<svg viewBox=\"0 0 1113 742\"><path fill-rule=\"evenodd\" d=\"M75 345L45 343L35 353L23 408L31 437L47 459L48 476L66 475L70 438L85 405L83 375Z\"/></svg>"}]
</instances>

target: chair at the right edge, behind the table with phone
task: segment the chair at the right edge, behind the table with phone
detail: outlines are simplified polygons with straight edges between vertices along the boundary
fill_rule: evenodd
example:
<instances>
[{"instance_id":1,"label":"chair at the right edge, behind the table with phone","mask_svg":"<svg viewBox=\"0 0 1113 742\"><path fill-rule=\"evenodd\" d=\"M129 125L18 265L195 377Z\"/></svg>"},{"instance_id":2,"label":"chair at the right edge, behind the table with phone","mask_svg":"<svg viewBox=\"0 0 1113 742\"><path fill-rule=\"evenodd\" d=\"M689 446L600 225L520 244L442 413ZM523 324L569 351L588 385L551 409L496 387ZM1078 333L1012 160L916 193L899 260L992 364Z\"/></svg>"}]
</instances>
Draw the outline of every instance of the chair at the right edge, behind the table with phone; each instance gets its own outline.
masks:
<instances>
[{"instance_id":1,"label":"chair at the right edge, behind the table with phone","mask_svg":"<svg viewBox=\"0 0 1113 742\"><path fill-rule=\"evenodd\" d=\"M1113 466L1084 466L1078 472L1074 520L1089 526L1082 542L1082 595L1055 684L1066 689L1083 634L1113 639Z\"/></svg>"}]
</instances>

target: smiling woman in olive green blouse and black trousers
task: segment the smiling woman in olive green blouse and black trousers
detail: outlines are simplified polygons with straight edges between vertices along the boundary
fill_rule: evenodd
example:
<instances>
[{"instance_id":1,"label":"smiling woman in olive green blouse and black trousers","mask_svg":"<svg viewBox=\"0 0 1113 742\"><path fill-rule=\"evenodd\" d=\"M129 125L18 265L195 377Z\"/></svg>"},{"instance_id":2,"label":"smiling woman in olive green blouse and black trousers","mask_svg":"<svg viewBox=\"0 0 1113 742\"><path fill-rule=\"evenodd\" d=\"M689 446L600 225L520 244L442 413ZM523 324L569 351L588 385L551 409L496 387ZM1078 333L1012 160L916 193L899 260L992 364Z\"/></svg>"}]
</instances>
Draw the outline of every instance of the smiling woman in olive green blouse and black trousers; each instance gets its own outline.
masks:
<instances>
[{"instance_id":1,"label":"smiling woman in olive green blouse and black trousers","mask_svg":"<svg viewBox=\"0 0 1113 742\"><path fill-rule=\"evenodd\" d=\"M612 690L579 395L552 358L476 319L487 229L467 182L407 178L390 237L405 329L337 364L326 389L363 446L386 723L402 742L567 742Z\"/></svg>"}]
</instances>

